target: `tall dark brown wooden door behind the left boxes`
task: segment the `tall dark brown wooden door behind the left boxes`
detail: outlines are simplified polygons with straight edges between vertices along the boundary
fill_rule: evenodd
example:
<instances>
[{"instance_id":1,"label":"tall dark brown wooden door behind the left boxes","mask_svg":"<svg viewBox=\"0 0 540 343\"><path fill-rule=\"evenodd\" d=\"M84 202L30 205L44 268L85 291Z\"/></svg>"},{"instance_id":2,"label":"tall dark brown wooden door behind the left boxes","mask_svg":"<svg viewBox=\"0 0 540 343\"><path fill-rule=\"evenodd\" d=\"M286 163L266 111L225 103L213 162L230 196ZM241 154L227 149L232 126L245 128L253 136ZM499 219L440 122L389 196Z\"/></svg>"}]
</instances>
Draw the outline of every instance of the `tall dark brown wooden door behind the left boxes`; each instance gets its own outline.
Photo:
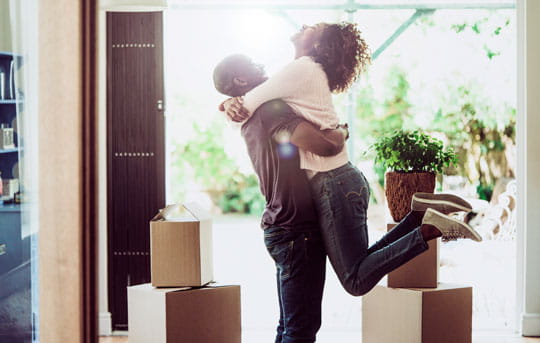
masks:
<instances>
[{"instance_id":1,"label":"tall dark brown wooden door behind the left boxes","mask_svg":"<svg viewBox=\"0 0 540 343\"><path fill-rule=\"evenodd\" d=\"M165 205L161 12L107 14L109 310L127 329L126 287L150 281L149 221Z\"/></svg>"}]
</instances>

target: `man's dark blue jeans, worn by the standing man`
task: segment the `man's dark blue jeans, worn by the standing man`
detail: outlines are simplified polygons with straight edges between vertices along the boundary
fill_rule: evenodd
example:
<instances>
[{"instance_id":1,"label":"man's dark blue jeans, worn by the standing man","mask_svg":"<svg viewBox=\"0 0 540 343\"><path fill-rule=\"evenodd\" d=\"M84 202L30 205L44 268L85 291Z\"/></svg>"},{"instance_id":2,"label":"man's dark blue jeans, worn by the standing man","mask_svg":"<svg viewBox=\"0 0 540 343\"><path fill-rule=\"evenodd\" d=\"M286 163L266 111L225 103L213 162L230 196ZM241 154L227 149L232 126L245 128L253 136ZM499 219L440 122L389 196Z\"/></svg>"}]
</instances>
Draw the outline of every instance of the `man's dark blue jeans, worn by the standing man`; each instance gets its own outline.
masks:
<instances>
[{"instance_id":1,"label":"man's dark blue jeans, worn by the standing man","mask_svg":"<svg viewBox=\"0 0 540 343\"><path fill-rule=\"evenodd\" d=\"M320 229L298 232L272 227L264 231L264 243L277 269L280 316L275 342L315 342L326 276Z\"/></svg>"}]
</instances>

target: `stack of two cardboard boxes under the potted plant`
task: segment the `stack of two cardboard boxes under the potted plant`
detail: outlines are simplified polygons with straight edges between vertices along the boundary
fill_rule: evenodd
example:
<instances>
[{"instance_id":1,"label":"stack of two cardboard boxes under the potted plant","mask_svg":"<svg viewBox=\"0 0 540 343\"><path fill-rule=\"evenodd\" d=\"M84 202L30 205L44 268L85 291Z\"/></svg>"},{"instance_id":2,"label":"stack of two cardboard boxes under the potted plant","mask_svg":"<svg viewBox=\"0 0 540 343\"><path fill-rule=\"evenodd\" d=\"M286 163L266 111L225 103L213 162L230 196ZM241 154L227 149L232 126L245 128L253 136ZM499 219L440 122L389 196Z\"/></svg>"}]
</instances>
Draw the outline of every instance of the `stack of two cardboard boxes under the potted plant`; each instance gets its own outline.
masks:
<instances>
[{"instance_id":1,"label":"stack of two cardboard boxes under the potted plant","mask_svg":"<svg viewBox=\"0 0 540 343\"><path fill-rule=\"evenodd\" d=\"M389 224L391 230L395 224ZM439 240L362 299L363 343L470 343L472 287L439 282Z\"/></svg>"}]
</instances>

